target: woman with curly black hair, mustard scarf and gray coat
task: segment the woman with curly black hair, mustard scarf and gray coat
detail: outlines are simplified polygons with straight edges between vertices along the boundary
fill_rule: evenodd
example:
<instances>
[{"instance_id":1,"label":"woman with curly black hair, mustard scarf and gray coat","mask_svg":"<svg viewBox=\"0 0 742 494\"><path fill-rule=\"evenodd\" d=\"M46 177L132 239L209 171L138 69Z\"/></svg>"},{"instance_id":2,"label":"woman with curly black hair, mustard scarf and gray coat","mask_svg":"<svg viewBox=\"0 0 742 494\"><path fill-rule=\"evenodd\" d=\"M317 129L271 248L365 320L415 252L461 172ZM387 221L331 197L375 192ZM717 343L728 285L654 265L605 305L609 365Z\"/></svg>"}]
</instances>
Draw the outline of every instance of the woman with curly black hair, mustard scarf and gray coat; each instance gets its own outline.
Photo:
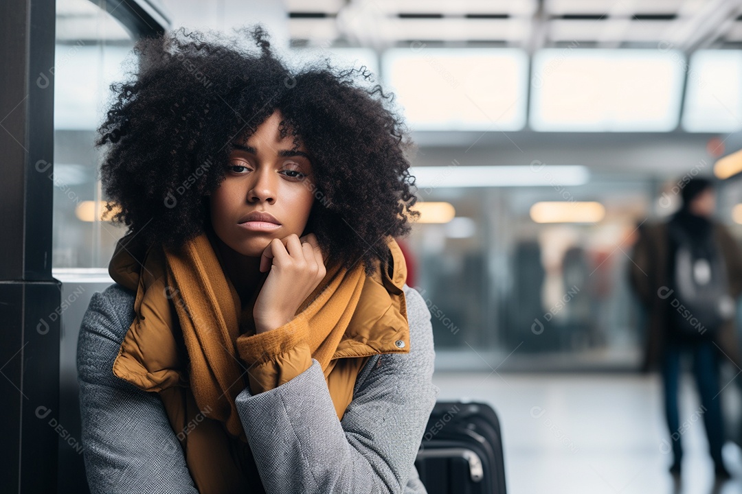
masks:
<instances>
[{"instance_id":1,"label":"woman with curly black hair, mustard scarf and gray coat","mask_svg":"<svg viewBox=\"0 0 742 494\"><path fill-rule=\"evenodd\" d=\"M102 181L130 231L79 337L91 490L424 493L401 122L365 70L290 73L249 35L140 41L114 87Z\"/></svg>"}]
</instances>

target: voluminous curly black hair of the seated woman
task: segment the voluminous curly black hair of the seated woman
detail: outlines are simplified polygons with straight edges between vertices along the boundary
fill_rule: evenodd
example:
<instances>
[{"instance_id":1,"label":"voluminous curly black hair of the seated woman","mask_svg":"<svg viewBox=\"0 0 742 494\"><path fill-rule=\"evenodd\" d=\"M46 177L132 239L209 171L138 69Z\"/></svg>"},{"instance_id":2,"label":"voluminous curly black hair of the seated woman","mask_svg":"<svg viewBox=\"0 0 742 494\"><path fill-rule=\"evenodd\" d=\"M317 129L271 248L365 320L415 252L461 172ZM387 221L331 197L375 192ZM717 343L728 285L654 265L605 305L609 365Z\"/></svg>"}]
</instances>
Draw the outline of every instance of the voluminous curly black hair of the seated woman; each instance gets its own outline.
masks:
<instances>
[{"instance_id":1,"label":"voluminous curly black hair of the seated woman","mask_svg":"<svg viewBox=\"0 0 742 494\"><path fill-rule=\"evenodd\" d=\"M410 232L419 213L410 210L409 133L393 95L365 67L324 60L289 70L260 26L237 39L181 29L138 41L134 53L137 70L111 85L96 144L106 150L101 176L113 219L146 244L177 248L209 227L206 196L226 174L232 141L275 110L281 136L312 157L317 190L306 231L327 259L347 268L362 260L370 275L375 259L387 261L380 240Z\"/></svg>"}]
</instances>

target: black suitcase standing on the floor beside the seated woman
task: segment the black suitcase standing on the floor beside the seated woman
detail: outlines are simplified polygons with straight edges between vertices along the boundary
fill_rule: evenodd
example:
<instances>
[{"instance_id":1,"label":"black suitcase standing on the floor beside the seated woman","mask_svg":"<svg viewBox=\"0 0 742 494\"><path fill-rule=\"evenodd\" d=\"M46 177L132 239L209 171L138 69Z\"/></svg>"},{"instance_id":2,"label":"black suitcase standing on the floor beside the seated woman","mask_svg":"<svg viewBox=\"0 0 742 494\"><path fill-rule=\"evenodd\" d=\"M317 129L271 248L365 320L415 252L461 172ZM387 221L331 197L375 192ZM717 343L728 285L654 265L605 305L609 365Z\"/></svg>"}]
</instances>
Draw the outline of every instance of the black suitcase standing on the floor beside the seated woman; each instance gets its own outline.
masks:
<instances>
[{"instance_id":1,"label":"black suitcase standing on the floor beside the seated woman","mask_svg":"<svg viewBox=\"0 0 742 494\"><path fill-rule=\"evenodd\" d=\"M505 494L495 410L479 402L437 402L415 466L428 494Z\"/></svg>"}]
</instances>

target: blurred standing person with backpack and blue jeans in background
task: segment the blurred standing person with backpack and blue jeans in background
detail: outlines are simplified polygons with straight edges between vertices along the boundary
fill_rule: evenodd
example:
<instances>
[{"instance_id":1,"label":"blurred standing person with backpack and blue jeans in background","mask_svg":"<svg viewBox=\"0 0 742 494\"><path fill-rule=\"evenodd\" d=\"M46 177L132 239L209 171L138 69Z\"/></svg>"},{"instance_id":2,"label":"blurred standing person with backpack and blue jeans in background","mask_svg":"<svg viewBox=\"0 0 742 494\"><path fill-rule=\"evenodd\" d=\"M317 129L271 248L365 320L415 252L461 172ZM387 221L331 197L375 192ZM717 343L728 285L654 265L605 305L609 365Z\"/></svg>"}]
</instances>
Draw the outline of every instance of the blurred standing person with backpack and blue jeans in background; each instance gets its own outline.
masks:
<instances>
[{"instance_id":1,"label":"blurred standing person with backpack and blue jeans in background","mask_svg":"<svg viewBox=\"0 0 742 494\"><path fill-rule=\"evenodd\" d=\"M723 225L713 220L716 194L706 178L682 189L680 210L662 224L643 227L631 259L631 285L649 317L644 370L659 366L673 461L680 475L683 449L678 413L680 361L692 356L709 452L718 478L729 478L720 403L720 363L740 364L732 321L742 291L741 252Z\"/></svg>"}]
</instances>

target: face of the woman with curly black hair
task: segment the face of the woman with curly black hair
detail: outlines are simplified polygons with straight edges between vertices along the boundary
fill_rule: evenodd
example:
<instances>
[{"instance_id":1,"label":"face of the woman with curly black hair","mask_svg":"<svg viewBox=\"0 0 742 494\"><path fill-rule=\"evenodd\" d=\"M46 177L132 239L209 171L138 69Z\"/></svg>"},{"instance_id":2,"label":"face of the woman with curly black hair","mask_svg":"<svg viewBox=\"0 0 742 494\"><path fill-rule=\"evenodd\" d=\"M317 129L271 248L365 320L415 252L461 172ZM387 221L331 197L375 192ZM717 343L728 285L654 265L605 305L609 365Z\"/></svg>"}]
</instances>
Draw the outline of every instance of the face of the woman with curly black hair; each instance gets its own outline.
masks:
<instances>
[{"instance_id":1,"label":"face of the woman with curly black hair","mask_svg":"<svg viewBox=\"0 0 742 494\"><path fill-rule=\"evenodd\" d=\"M312 164L303 145L280 138L275 111L247 141L233 143L226 178L211 193L211 224L217 236L243 256L259 257L273 238L301 236L314 201ZM275 223L251 221L267 213Z\"/></svg>"}]
</instances>

